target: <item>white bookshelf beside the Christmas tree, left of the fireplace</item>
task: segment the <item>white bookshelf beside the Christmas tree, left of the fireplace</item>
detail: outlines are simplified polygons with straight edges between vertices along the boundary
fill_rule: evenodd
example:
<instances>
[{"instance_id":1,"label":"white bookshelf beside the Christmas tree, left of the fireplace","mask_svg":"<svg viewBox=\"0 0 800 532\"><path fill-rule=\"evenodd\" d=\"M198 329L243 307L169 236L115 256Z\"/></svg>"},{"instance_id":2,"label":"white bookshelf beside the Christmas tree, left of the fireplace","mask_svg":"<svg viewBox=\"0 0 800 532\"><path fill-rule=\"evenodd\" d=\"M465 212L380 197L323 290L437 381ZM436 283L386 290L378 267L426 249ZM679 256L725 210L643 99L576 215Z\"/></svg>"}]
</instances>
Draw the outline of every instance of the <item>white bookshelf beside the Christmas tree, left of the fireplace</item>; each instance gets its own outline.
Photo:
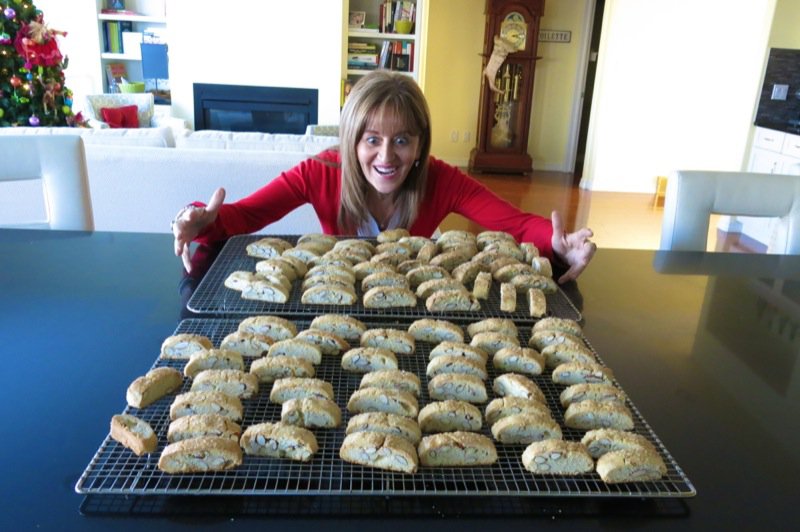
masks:
<instances>
[{"instance_id":1,"label":"white bookshelf beside the Christmas tree, left of the fireplace","mask_svg":"<svg viewBox=\"0 0 800 532\"><path fill-rule=\"evenodd\" d=\"M124 12L104 13L109 4L108 0L96 0L105 92L110 91L111 71L124 71L128 81L144 81L140 43L165 42L167 28L166 0L125 0Z\"/></svg>"}]
</instances>

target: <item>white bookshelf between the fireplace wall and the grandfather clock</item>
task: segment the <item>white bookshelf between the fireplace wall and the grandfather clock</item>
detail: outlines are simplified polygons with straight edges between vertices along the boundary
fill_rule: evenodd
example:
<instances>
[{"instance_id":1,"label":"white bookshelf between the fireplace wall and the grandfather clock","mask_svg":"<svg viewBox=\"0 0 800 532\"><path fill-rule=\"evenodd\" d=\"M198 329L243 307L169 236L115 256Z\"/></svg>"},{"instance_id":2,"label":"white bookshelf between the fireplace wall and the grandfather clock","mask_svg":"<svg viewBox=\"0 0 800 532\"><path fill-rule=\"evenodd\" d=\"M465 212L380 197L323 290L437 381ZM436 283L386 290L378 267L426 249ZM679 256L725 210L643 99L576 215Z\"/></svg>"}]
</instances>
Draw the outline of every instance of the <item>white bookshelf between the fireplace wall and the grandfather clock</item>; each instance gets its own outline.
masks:
<instances>
[{"instance_id":1,"label":"white bookshelf between the fireplace wall and the grandfather clock","mask_svg":"<svg viewBox=\"0 0 800 532\"><path fill-rule=\"evenodd\" d=\"M423 56L422 35L425 25L425 0L349 0L345 2L346 42L343 50L344 73L347 83L376 68L388 68L407 73L420 81L420 60ZM389 7L391 6L391 8ZM387 15L391 11L391 16ZM400 33L396 16L413 18L410 33ZM385 18L384 18L385 17ZM353 26L350 23L361 23ZM363 60L358 60L363 59Z\"/></svg>"}]
</instances>

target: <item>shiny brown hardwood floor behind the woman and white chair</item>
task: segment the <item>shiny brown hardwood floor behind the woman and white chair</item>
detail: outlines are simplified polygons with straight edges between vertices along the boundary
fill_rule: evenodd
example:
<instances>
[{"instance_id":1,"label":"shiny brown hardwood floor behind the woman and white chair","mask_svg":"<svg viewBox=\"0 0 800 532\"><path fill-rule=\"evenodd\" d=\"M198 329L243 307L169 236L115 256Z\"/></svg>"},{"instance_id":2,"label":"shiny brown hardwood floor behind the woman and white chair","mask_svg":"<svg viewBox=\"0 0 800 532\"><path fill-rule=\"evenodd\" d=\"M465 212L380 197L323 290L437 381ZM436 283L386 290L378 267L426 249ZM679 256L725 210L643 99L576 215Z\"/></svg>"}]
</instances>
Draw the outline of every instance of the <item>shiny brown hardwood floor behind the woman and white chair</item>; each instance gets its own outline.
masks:
<instances>
[{"instance_id":1,"label":"shiny brown hardwood floor behind the woman and white chair","mask_svg":"<svg viewBox=\"0 0 800 532\"><path fill-rule=\"evenodd\" d=\"M466 170L465 170L466 171ZM574 186L572 174L534 171L532 175L471 174L495 194L528 212L550 216L559 211L567 231L589 227L600 248L658 249L661 239L663 202L654 194L592 192ZM708 249L713 251L764 252L758 242L740 239L716 229L718 216L711 216ZM484 228L451 214L442 222L443 231Z\"/></svg>"}]
</instances>

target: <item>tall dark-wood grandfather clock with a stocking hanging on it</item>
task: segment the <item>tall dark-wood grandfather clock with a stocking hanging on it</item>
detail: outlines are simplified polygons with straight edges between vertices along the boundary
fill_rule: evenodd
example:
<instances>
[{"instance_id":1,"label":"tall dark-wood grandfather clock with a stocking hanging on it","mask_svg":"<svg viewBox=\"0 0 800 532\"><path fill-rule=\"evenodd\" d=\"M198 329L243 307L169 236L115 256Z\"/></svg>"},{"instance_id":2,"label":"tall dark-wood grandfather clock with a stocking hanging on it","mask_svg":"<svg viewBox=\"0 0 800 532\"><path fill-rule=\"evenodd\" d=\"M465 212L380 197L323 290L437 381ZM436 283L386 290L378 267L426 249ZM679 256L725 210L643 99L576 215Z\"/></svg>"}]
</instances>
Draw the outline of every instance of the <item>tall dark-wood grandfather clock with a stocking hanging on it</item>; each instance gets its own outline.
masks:
<instances>
[{"instance_id":1,"label":"tall dark-wood grandfather clock with a stocking hanging on it","mask_svg":"<svg viewBox=\"0 0 800 532\"><path fill-rule=\"evenodd\" d=\"M528 129L544 0L486 0L476 172L527 173Z\"/></svg>"}]
</instances>

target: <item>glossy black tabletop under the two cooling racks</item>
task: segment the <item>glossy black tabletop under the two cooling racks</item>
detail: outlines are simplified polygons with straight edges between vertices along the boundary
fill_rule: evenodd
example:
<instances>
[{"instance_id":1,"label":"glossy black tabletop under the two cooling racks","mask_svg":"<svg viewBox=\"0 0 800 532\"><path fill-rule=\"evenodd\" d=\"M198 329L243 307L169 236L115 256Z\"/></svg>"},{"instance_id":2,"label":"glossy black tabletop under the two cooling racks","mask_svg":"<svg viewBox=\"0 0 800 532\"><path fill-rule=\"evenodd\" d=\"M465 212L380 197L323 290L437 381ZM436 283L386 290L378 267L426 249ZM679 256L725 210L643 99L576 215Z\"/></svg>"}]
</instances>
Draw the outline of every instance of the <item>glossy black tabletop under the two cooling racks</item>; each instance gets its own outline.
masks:
<instances>
[{"instance_id":1,"label":"glossy black tabletop under the two cooling racks","mask_svg":"<svg viewBox=\"0 0 800 532\"><path fill-rule=\"evenodd\" d=\"M800 257L598 251L586 337L697 489L689 499L123 497L79 476L181 317L169 235L0 230L4 530L765 530L794 522Z\"/></svg>"}]
</instances>

